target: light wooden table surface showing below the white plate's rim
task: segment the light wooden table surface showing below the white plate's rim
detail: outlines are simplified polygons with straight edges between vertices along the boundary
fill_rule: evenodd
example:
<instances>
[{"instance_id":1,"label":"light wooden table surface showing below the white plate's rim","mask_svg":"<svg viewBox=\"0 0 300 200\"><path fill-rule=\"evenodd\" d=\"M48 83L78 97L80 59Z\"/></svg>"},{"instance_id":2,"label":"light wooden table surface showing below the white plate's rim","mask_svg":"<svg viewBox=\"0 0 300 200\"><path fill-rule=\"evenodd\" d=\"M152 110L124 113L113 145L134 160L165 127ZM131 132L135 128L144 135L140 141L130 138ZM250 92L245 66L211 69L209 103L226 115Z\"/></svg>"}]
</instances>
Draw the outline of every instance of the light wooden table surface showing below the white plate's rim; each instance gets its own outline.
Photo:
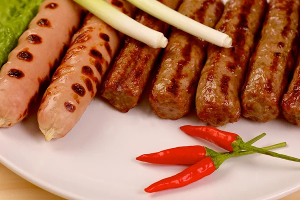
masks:
<instances>
[{"instance_id":1,"label":"light wooden table surface showing below the white plate's rim","mask_svg":"<svg viewBox=\"0 0 300 200\"><path fill-rule=\"evenodd\" d=\"M5 200L63 200L16 175L0 163L0 199ZM281 200L300 199L300 191Z\"/></svg>"}]
</instances>

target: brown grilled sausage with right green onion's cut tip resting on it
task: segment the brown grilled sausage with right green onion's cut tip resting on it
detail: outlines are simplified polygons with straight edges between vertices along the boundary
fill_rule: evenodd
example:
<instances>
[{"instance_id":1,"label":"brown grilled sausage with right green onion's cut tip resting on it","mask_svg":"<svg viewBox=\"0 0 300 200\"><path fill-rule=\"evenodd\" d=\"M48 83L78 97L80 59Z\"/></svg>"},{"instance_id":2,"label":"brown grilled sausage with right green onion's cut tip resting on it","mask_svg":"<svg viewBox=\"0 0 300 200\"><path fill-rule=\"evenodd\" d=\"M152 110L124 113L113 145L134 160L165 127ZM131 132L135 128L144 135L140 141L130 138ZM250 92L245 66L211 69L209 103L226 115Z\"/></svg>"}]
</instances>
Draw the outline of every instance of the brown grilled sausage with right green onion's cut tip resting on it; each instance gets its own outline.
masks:
<instances>
[{"instance_id":1,"label":"brown grilled sausage with right green onion's cut tip resting on it","mask_svg":"<svg viewBox=\"0 0 300 200\"><path fill-rule=\"evenodd\" d=\"M266 0L229 0L216 29L232 37L232 47L209 44L196 92L199 118L209 125L233 123L240 118L239 91Z\"/></svg>"}]
</instances>

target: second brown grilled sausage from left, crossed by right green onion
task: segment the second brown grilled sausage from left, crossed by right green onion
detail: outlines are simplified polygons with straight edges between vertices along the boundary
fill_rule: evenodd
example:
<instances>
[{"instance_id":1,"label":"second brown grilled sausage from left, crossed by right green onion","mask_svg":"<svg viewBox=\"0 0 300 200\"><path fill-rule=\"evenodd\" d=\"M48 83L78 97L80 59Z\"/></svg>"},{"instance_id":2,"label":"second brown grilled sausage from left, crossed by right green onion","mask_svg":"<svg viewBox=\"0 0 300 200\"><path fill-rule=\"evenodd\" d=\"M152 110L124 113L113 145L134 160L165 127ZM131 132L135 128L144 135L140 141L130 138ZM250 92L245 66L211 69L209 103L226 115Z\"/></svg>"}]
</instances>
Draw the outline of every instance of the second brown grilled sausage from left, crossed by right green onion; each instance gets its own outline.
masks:
<instances>
[{"instance_id":1,"label":"second brown grilled sausage from left, crossed by right green onion","mask_svg":"<svg viewBox=\"0 0 300 200\"><path fill-rule=\"evenodd\" d=\"M221 0L185 0L178 12L214 27L223 9ZM207 46L207 42L173 27L149 95L155 114L178 119L188 113L194 105Z\"/></svg>"}]
</instances>

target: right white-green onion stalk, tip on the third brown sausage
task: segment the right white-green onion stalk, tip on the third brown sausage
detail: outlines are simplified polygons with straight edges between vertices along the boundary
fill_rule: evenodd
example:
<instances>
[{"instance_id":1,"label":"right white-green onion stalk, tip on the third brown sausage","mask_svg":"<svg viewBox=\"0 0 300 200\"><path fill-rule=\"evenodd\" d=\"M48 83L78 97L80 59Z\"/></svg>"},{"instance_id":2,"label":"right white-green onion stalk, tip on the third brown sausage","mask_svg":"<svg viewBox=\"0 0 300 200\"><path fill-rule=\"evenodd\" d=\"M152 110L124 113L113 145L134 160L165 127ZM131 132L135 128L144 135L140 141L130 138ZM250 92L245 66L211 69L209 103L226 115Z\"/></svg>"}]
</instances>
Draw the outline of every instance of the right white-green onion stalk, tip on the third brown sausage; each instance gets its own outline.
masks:
<instances>
[{"instance_id":1,"label":"right white-green onion stalk, tip on the third brown sausage","mask_svg":"<svg viewBox=\"0 0 300 200\"><path fill-rule=\"evenodd\" d=\"M127 0L139 9L152 16L181 29L191 35L201 38L215 45L229 48L232 39L229 35L203 25L175 10L167 7L157 0Z\"/></svg>"}]
</instances>

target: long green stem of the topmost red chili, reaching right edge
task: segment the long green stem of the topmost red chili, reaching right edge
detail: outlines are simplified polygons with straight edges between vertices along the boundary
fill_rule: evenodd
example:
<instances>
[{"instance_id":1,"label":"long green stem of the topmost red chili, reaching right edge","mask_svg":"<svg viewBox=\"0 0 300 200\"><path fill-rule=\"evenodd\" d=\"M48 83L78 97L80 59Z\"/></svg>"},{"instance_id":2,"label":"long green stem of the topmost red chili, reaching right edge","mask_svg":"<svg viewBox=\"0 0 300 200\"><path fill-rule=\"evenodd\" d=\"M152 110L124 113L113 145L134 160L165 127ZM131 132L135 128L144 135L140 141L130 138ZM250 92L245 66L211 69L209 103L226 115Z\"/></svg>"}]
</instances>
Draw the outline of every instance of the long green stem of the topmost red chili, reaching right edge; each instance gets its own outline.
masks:
<instances>
[{"instance_id":1,"label":"long green stem of the topmost red chili, reaching right edge","mask_svg":"<svg viewBox=\"0 0 300 200\"><path fill-rule=\"evenodd\" d=\"M256 146L249 145L249 144L245 143L240 137L238 139L236 139L234 142L232 142L231 145L232 145L233 149L250 150L250 151L253 151L253 152L257 152L257 153L261 153L261 154L265 154L265 155L270 155L270 156L273 156L273 157L278 157L278 158L282 158L282 159L286 159L286 160L300 162L299 158L291 157L291 156L288 156L288 155L283 155L283 154L280 154L280 153L275 153L275 152L272 152L272 151L269 151L269 150L265 150L265 149L262 149L262 148L258 148Z\"/></svg>"}]
</instances>

